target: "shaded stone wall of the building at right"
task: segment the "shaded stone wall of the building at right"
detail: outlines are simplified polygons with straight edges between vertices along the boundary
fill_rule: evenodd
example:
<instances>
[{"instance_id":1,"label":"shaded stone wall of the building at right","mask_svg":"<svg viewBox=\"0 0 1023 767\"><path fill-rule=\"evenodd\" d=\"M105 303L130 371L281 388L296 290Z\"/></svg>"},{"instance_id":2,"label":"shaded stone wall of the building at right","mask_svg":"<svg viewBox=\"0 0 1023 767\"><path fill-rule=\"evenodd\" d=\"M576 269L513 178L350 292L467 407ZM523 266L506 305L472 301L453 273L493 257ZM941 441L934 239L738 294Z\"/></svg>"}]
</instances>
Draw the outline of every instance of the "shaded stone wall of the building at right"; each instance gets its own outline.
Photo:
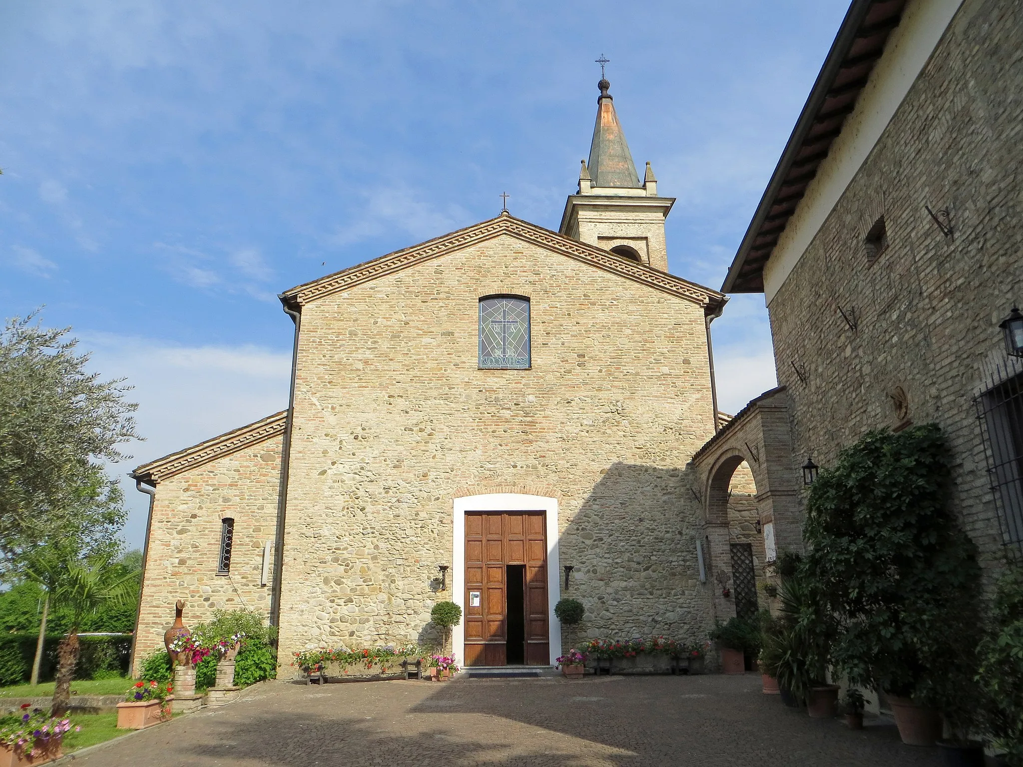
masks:
<instances>
[{"instance_id":1,"label":"shaded stone wall of the building at right","mask_svg":"<svg viewBox=\"0 0 1023 767\"><path fill-rule=\"evenodd\" d=\"M1023 5L964 3L769 307L797 465L898 427L901 387L908 420L948 436L951 501L989 568L1000 540L973 398L1004 358L997 323L1023 304L1021 49ZM953 236L925 205L948 209ZM863 238L882 215L889 245L871 265ZM855 331L838 307L855 309Z\"/></svg>"}]
</instances>

